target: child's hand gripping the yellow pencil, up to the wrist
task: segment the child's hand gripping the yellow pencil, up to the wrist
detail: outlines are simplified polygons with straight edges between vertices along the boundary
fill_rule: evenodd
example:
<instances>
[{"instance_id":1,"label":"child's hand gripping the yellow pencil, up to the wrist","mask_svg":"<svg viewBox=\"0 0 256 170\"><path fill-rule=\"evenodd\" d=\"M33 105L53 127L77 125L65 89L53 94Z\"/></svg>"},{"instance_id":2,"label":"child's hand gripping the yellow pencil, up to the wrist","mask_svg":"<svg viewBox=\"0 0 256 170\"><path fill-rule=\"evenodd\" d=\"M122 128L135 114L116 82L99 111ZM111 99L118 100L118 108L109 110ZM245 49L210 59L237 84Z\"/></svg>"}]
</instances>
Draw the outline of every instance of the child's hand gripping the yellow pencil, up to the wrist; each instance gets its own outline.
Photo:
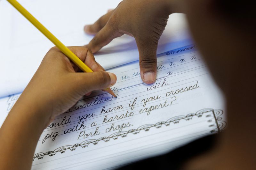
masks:
<instances>
[{"instance_id":1,"label":"child's hand gripping the yellow pencil, up to the wrist","mask_svg":"<svg viewBox=\"0 0 256 170\"><path fill-rule=\"evenodd\" d=\"M116 75L105 72L90 50L84 47L69 49L94 72L79 72L79 68L58 48L51 48L19 99L28 106L36 105L48 122L67 111L85 94L116 83Z\"/></svg>"}]
</instances>

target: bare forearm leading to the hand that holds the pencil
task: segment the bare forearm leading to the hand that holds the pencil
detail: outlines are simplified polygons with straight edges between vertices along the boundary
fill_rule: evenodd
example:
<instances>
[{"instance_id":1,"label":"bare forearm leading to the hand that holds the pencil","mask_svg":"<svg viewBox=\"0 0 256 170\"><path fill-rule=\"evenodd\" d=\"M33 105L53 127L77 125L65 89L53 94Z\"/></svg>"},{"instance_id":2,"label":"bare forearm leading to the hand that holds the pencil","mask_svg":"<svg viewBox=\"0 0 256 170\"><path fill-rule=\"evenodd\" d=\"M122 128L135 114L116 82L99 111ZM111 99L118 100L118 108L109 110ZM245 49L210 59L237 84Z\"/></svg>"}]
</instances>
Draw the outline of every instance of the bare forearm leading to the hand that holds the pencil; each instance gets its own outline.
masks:
<instances>
[{"instance_id":1,"label":"bare forearm leading to the hand that holds the pencil","mask_svg":"<svg viewBox=\"0 0 256 170\"><path fill-rule=\"evenodd\" d=\"M5 151L6 158L15 153L12 161L23 169L30 168L36 144L47 126L47 119L49 121L49 116L45 116L41 109L31 102L33 100L33 97L28 100L26 95L21 95L0 129L0 138L3 139L0 141L0 149ZM8 159L3 157L0 161L3 160L7 162L4 165L7 169L13 169Z\"/></svg>"}]
</instances>

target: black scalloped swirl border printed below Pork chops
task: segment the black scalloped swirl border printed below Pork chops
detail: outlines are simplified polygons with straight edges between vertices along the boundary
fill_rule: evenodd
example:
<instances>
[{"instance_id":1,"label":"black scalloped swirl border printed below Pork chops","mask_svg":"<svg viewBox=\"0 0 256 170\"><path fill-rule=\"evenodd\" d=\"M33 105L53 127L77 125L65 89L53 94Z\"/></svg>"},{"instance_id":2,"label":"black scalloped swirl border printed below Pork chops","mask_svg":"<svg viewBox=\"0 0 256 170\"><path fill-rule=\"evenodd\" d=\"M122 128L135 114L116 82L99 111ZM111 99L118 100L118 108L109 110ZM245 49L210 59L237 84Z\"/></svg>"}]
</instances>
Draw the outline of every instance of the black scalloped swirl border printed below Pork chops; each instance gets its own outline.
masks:
<instances>
[{"instance_id":1,"label":"black scalloped swirl border printed below Pork chops","mask_svg":"<svg viewBox=\"0 0 256 170\"><path fill-rule=\"evenodd\" d=\"M36 153L34 155L33 160L35 160L36 158L37 159L43 159L43 157L45 155L53 156L57 152L64 153L66 150L74 151L79 146L82 147L82 148L86 148L86 147L88 147L89 144L93 144L93 145L98 144L99 141L108 142L111 138L116 140L120 136L121 137L126 137L127 134L129 134L129 133L132 133L132 134L136 135L136 134L140 133L141 130L149 131L149 129L152 128L152 127L161 128L162 125L169 126L171 123L177 124L177 123L180 122L180 120L189 121L195 116L202 117L203 114L209 113L209 112L212 112L212 114L214 115L215 121L216 121L216 123L209 126L209 127L212 127L212 126L214 127L214 125L216 126L216 129L211 130L211 132L219 132L222 129L224 129L226 127L227 123L225 121L223 121L223 119L221 117L222 114L223 114L223 110L205 108L205 109L201 109L201 110L197 111L196 113L190 113L186 116L184 116L184 115L175 116L175 117L172 117L172 118L170 118L166 121L157 122L155 124L142 125L142 126L138 127L137 129L130 129L128 131L115 132L115 133L109 135L108 137L100 137L98 139L88 139L88 140L85 140L85 141L81 142L80 144L66 145L66 146L62 146L62 147L59 147L59 148L57 148L53 151L48 151L48 152L39 152L39 153ZM211 117L211 114L206 115L206 117Z\"/></svg>"}]
</instances>

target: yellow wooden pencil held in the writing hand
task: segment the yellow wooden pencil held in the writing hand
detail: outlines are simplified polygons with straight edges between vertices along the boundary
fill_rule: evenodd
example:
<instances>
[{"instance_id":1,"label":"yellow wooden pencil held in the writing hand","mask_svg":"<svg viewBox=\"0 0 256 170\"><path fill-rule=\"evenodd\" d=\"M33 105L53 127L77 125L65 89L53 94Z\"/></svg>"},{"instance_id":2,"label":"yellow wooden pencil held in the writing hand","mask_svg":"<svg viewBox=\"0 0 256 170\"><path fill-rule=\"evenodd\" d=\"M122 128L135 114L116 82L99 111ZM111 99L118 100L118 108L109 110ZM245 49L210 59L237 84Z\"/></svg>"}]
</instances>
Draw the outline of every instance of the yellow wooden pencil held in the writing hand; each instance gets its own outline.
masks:
<instances>
[{"instance_id":1,"label":"yellow wooden pencil held in the writing hand","mask_svg":"<svg viewBox=\"0 0 256 170\"><path fill-rule=\"evenodd\" d=\"M14 8L16 8L25 18L27 18L41 33L43 33L52 43L60 49L73 63L75 63L84 72L92 72L92 70L82 62L70 49L68 49L60 40L58 40L49 30L47 30L33 15L31 15L20 3L16 0L7 0ZM116 97L115 93L110 89L104 89ZM116 97L117 98L117 97Z\"/></svg>"}]
</instances>

